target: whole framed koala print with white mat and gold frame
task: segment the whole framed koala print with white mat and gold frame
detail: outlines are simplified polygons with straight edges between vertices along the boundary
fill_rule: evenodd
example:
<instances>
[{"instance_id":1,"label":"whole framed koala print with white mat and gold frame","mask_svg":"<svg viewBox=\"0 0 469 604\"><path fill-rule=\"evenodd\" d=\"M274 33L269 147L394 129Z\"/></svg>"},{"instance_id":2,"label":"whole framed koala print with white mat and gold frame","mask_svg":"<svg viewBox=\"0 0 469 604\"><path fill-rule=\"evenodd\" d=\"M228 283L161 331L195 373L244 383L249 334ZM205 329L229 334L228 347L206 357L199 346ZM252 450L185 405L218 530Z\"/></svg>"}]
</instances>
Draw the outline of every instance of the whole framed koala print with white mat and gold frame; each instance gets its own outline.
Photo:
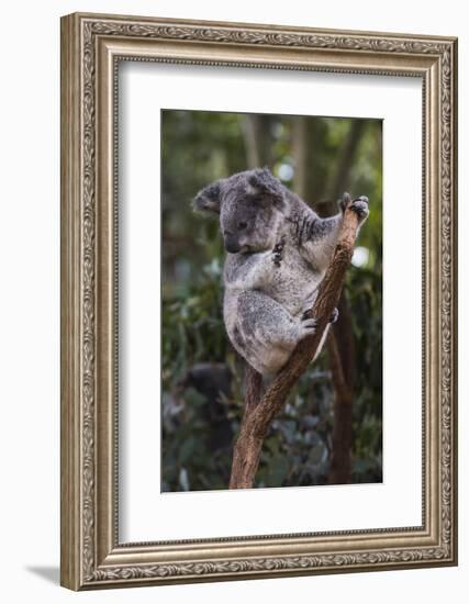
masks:
<instances>
[{"instance_id":1,"label":"whole framed koala print with white mat and gold frame","mask_svg":"<svg viewBox=\"0 0 469 604\"><path fill-rule=\"evenodd\" d=\"M457 41L62 20L62 584L457 563Z\"/></svg>"}]
</instances>

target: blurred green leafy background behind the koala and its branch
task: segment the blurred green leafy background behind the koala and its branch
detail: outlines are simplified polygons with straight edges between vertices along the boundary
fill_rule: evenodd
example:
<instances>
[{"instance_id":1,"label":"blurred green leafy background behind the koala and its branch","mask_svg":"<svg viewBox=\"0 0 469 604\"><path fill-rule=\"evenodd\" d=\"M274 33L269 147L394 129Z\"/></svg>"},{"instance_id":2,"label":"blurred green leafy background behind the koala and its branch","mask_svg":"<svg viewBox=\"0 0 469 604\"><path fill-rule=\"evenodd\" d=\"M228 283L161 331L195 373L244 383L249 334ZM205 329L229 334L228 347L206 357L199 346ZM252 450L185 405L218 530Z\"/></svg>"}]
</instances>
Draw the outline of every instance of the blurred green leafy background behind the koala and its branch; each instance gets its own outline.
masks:
<instances>
[{"instance_id":1,"label":"blurred green leafy background behind the koala and its branch","mask_svg":"<svg viewBox=\"0 0 469 604\"><path fill-rule=\"evenodd\" d=\"M223 326L219 223L194 214L191 200L217 178L264 166L320 215L335 214L349 191L370 199L370 217L347 273L336 346L324 347L273 422L255 485L382 480L381 121L165 110L163 491L228 484L244 363Z\"/></svg>"}]
</instances>

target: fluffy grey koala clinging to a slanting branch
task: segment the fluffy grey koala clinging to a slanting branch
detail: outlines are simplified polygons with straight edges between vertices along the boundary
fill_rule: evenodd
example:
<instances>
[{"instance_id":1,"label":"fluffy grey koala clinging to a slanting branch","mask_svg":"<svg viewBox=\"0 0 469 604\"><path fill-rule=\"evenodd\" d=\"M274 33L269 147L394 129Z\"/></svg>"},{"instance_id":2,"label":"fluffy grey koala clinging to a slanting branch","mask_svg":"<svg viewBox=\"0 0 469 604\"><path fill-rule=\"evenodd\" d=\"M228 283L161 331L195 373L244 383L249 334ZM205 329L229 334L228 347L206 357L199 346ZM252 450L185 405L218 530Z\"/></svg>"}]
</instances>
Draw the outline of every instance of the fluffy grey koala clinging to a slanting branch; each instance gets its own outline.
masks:
<instances>
[{"instance_id":1,"label":"fluffy grey koala clinging to a slanting branch","mask_svg":"<svg viewBox=\"0 0 469 604\"><path fill-rule=\"evenodd\" d=\"M197 194L196 210L220 215L227 253L223 269L227 335L259 373L277 373L297 344L314 334L316 320L308 311L332 260L348 202L344 195L339 212L321 219L267 168L220 179ZM361 225L369 214L368 198L350 203Z\"/></svg>"}]
</instances>

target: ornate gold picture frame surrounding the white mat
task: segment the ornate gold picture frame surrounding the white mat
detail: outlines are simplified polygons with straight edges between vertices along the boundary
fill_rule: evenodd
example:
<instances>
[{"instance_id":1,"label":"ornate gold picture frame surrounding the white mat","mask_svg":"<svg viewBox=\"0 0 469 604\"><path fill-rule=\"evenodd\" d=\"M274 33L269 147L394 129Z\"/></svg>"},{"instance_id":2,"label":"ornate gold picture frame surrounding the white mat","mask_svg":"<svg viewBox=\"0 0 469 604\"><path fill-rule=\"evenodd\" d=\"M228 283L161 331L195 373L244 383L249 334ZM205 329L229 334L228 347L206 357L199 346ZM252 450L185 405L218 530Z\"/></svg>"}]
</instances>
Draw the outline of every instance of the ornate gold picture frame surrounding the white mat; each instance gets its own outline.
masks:
<instances>
[{"instance_id":1,"label":"ornate gold picture frame surrounding the white mat","mask_svg":"<svg viewBox=\"0 0 469 604\"><path fill-rule=\"evenodd\" d=\"M120 544L115 166L119 60L423 80L423 525ZM62 584L72 590L456 564L457 41L71 14L62 20Z\"/></svg>"}]
</instances>

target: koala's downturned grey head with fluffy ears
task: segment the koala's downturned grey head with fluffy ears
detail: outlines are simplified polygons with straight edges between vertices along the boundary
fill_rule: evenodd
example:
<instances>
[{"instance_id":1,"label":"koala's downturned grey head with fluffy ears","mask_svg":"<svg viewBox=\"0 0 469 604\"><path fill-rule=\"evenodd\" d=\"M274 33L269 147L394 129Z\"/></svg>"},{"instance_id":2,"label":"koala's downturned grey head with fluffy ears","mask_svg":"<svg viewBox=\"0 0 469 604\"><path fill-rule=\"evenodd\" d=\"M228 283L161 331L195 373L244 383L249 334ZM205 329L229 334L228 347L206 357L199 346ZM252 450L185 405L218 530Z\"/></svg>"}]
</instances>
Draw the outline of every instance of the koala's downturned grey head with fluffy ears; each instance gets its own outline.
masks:
<instances>
[{"instance_id":1,"label":"koala's downturned grey head with fluffy ears","mask_svg":"<svg viewBox=\"0 0 469 604\"><path fill-rule=\"evenodd\" d=\"M193 204L220 214L226 251L244 254L273 247L287 200L281 182L264 168L212 182Z\"/></svg>"}]
</instances>

